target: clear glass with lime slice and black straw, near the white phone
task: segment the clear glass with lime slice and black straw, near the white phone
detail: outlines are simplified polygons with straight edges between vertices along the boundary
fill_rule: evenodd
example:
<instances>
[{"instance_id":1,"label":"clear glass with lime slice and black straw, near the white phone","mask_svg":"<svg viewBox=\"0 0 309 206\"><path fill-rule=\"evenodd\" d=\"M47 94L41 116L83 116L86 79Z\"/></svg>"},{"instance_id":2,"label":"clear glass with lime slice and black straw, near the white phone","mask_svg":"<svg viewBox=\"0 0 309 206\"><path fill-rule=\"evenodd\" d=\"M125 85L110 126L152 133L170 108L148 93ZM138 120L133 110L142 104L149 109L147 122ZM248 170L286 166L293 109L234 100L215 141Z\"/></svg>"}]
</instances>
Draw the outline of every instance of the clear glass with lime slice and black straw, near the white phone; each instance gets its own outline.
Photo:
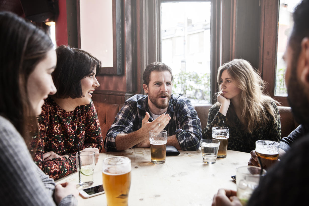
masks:
<instances>
[{"instance_id":1,"label":"clear glass with lime slice and black straw, near the white phone","mask_svg":"<svg viewBox=\"0 0 309 206\"><path fill-rule=\"evenodd\" d=\"M95 153L81 151L76 153L76 168L78 171L78 184L89 186L93 184L93 170L95 169Z\"/></svg>"}]
</instances>

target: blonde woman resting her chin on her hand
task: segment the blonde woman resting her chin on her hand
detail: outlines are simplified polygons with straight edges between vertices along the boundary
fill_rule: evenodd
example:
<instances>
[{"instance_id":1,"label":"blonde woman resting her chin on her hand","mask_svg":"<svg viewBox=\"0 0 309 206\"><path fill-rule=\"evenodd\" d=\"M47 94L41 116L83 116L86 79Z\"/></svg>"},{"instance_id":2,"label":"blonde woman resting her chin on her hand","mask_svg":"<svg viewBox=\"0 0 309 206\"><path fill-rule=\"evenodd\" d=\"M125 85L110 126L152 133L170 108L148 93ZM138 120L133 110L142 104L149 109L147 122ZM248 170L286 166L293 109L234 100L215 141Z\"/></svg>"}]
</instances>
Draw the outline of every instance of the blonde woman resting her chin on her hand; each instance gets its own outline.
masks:
<instances>
[{"instance_id":1,"label":"blonde woman resting her chin on her hand","mask_svg":"<svg viewBox=\"0 0 309 206\"><path fill-rule=\"evenodd\" d=\"M203 138L211 138L213 127L228 127L228 149L248 153L256 140L280 141L278 102L263 94L263 80L248 61L234 59L220 66L217 82L218 101L209 110Z\"/></svg>"}]
</instances>

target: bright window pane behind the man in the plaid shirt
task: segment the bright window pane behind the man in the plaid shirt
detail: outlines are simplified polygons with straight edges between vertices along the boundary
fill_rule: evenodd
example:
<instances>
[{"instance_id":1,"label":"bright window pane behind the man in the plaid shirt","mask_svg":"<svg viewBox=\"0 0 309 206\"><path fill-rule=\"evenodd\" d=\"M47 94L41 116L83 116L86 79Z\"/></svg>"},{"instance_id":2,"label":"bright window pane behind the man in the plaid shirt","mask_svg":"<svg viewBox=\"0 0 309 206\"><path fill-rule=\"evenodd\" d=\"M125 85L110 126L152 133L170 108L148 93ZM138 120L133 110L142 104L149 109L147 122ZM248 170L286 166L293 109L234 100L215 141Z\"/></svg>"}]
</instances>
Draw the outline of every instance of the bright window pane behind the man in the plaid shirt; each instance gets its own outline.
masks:
<instances>
[{"instance_id":1,"label":"bright window pane behind the man in the plaid shirt","mask_svg":"<svg viewBox=\"0 0 309 206\"><path fill-rule=\"evenodd\" d=\"M211 2L161 2L161 55L174 75L173 93L210 102Z\"/></svg>"}]
</instances>

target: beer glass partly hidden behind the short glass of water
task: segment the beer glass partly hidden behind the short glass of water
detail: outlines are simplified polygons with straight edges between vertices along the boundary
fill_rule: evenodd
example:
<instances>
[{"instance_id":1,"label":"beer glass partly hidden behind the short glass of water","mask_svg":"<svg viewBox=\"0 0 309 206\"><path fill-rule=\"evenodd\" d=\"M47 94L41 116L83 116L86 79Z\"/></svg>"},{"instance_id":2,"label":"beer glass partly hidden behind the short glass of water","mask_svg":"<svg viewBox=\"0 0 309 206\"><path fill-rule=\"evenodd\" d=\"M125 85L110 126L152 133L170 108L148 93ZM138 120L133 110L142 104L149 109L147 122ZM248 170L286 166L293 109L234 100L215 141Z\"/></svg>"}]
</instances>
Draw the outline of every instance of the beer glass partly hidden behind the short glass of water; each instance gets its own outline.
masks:
<instances>
[{"instance_id":1,"label":"beer glass partly hidden behind the short glass of water","mask_svg":"<svg viewBox=\"0 0 309 206\"><path fill-rule=\"evenodd\" d=\"M213 127L212 138L220 141L217 158L226 158L227 145L229 143L230 128L228 127Z\"/></svg>"}]
</instances>

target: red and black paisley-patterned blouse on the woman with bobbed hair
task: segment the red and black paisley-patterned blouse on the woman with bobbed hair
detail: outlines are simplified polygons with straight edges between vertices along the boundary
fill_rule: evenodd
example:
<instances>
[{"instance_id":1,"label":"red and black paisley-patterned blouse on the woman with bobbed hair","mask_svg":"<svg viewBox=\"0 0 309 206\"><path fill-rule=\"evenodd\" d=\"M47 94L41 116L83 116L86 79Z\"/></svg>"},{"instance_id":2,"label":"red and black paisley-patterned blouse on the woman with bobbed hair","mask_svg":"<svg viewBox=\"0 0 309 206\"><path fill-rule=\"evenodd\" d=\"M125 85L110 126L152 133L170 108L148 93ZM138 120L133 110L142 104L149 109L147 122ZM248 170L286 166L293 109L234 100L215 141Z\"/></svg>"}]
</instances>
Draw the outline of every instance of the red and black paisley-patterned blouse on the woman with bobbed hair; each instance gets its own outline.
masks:
<instances>
[{"instance_id":1,"label":"red and black paisley-patterned blouse on the woman with bobbed hair","mask_svg":"<svg viewBox=\"0 0 309 206\"><path fill-rule=\"evenodd\" d=\"M47 98L38 116L40 139L34 156L35 163L45 174L59 179L76 172L75 156L78 151L87 147L102 149L101 127L95 107L92 103L78 106L74 111L65 111L52 98ZM33 137L32 142L36 142ZM35 145L31 145L35 147ZM53 151L67 157L43 160L43 154Z\"/></svg>"}]
</instances>

